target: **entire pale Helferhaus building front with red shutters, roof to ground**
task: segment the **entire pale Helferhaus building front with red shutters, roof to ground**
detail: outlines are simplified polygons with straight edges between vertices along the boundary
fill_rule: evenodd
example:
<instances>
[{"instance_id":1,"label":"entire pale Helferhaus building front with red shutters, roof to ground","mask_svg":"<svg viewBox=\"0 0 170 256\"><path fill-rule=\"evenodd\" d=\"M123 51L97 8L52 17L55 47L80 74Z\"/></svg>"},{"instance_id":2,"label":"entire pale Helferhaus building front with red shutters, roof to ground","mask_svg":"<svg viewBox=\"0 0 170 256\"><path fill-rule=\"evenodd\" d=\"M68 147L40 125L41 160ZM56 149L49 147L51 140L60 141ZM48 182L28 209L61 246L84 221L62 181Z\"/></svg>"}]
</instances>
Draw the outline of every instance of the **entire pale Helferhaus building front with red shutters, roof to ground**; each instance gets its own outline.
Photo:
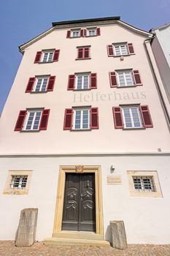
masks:
<instances>
[{"instance_id":1,"label":"entire pale Helferhaus building front with red shutters, roof to ground","mask_svg":"<svg viewBox=\"0 0 170 256\"><path fill-rule=\"evenodd\" d=\"M0 239L38 208L37 240L74 230L111 241L109 221L123 220L128 244L169 244L169 101L151 37L96 18L20 46L0 119Z\"/></svg>"}]
</instances>

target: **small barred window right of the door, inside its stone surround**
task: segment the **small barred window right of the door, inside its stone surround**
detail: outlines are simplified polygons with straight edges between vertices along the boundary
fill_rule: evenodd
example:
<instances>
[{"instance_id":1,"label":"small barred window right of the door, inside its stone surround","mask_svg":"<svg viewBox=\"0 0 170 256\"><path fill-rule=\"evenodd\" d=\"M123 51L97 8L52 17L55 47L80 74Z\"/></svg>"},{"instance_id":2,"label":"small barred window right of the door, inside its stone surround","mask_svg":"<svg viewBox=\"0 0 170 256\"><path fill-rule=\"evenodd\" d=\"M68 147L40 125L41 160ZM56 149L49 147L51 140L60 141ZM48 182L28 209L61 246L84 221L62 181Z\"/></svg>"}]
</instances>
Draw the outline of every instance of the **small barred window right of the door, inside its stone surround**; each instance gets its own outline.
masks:
<instances>
[{"instance_id":1,"label":"small barred window right of the door, inside its stone surround","mask_svg":"<svg viewBox=\"0 0 170 256\"><path fill-rule=\"evenodd\" d=\"M134 188L140 191L155 192L152 176L133 176Z\"/></svg>"}]
</instances>

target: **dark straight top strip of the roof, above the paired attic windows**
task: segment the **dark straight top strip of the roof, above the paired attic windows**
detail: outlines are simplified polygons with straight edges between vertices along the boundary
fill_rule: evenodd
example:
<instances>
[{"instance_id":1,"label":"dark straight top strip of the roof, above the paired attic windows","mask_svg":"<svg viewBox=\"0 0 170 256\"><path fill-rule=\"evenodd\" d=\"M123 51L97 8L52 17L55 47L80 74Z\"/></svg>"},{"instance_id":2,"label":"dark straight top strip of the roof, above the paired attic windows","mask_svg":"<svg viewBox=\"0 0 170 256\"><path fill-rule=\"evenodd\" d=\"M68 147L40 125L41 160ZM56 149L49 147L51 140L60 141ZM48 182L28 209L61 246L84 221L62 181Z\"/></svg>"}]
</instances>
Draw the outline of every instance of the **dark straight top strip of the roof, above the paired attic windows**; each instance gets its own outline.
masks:
<instances>
[{"instance_id":1,"label":"dark straight top strip of the roof, above the paired attic windows","mask_svg":"<svg viewBox=\"0 0 170 256\"><path fill-rule=\"evenodd\" d=\"M76 24L76 23L87 23L93 21L105 21L105 20L120 20L120 16L106 17L106 18L90 18L83 20L66 20L66 21L58 21L52 22L53 26L66 25L66 24Z\"/></svg>"}]
</instances>

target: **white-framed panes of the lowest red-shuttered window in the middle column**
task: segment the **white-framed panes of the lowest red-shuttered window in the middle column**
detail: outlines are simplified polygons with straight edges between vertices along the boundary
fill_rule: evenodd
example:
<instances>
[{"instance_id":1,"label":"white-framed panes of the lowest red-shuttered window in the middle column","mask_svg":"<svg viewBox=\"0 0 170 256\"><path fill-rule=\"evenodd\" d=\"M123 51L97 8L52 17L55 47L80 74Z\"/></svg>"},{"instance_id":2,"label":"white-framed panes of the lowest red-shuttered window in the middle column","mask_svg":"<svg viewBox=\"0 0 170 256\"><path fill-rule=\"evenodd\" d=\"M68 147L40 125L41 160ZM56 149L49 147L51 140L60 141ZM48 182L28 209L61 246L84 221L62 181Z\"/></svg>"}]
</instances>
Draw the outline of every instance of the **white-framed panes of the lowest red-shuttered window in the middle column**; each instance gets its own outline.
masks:
<instances>
[{"instance_id":1,"label":"white-framed panes of the lowest red-shuttered window in the middle column","mask_svg":"<svg viewBox=\"0 0 170 256\"><path fill-rule=\"evenodd\" d=\"M90 108L74 108L73 129L90 129Z\"/></svg>"}]
</instances>

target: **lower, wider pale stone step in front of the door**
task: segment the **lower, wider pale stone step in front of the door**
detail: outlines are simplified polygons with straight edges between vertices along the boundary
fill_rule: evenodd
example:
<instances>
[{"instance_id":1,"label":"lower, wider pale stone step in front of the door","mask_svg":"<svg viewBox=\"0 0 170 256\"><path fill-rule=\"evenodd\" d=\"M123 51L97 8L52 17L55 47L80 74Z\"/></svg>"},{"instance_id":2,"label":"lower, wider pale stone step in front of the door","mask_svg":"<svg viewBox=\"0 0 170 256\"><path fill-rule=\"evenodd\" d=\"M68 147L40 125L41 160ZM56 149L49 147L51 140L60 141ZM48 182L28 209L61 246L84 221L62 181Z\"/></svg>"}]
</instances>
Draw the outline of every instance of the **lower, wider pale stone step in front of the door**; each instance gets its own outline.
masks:
<instances>
[{"instance_id":1,"label":"lower, wider pale stone step in front of the door","mask_svg":"<svg viewBox=\"0 0 170 256\"><path fill-rule=\"evenodd\" d=\"M109 246L109 241L105 240L95 240L95 239L80 239L80 238L47 238L44 241L47 246L57 246L57 245L88 245L88 246Z\"/></svg>"}]
</instances>

